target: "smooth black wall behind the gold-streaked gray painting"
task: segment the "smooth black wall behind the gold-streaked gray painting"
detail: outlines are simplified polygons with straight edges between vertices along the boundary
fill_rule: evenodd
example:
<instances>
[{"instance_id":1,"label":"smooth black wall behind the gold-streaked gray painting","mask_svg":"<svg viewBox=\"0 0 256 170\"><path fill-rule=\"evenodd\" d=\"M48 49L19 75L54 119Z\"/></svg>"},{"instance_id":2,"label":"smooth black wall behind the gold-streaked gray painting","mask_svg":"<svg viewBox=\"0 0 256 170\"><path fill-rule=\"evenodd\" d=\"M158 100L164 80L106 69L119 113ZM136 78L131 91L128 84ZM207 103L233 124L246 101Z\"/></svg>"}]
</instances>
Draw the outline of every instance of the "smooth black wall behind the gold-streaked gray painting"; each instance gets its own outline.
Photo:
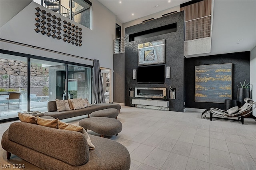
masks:
<instances>
[{"instance_id":1,"label":"smooth black wall behind the gold-streaked gray painting","mask_svg":"<svg viewBox=\"0 0 256 170\"><path fill-rule=\"evenodd\" d=\"M250 81L250 51L213 56L202 56L185 59L185 91L186 107L208 109L211 107L224 109L223 103L195 102L195 66L208 64L233 63L232 99L236 100L239 82Z\"/></svg>"}]
</instances>

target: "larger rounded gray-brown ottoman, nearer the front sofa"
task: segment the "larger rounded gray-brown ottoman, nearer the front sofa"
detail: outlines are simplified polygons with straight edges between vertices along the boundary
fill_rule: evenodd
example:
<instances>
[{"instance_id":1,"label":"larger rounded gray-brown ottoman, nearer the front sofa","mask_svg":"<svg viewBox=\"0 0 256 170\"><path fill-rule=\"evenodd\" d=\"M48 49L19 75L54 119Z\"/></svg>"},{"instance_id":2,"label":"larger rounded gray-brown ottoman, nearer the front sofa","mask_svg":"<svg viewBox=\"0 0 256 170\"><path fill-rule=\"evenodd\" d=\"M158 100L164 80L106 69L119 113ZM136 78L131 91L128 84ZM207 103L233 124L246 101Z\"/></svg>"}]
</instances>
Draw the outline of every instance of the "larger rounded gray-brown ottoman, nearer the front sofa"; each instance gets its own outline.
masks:
<instances>
[{"instance_id":1,"label":"larger rounded gray-brown ottoman, nearer the front sofa","mask_svg":"<svg viewBox=\"0 0 256 170\"><path fill-rule=\"evenodd\" d=\"M122 131L122 123L119 120L105 117L93 117L80 120L79 126L82 126L85 130L89 129L93 132L104 135L112 136L117 135Z\"/></svg>"}]
</instances>

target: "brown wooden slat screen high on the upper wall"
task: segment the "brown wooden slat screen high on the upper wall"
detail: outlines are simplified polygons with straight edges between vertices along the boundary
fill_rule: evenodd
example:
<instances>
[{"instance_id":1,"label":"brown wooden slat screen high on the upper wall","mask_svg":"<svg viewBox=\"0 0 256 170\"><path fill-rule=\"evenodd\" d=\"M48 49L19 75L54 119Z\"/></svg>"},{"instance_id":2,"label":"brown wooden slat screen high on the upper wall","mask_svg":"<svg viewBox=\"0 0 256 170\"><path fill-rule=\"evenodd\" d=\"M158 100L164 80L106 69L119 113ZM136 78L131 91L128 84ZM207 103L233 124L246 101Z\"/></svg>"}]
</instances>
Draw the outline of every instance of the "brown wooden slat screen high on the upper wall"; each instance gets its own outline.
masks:
<instances>
[{"instance_id":1,"label":"brown wooden slat screen high on the upper wall","mask_svg":"<svg viewBox=\"0 0 256 170\"><path fill-rule=\"evenodd\" d=\"M184 6L185 11L185 41L211 36L212 0L204 0Z\"/></svg>"}]
</instances>

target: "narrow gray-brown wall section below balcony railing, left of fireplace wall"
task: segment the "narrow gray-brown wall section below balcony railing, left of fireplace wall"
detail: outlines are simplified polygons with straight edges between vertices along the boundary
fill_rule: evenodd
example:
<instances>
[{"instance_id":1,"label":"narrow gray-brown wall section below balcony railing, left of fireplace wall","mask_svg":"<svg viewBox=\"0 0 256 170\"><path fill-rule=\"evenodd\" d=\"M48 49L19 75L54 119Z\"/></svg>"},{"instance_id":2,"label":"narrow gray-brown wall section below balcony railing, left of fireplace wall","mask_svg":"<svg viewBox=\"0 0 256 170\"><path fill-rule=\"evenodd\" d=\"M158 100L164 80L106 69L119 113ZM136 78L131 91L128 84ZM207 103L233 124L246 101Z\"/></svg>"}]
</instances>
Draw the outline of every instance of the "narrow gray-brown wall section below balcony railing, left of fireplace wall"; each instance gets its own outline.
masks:
<instances>
[{"instance_id":1,"label":"narrow gray-brown wall section below balcony railing, left of fireplace wall","mask_svg":"<svg viewBox=\"0 0 256 170\"><path fill-rule=\"evenodd\" d=\"M113 55L113 102L124 103L124 53Z\"/></svg>"}]
</instances>

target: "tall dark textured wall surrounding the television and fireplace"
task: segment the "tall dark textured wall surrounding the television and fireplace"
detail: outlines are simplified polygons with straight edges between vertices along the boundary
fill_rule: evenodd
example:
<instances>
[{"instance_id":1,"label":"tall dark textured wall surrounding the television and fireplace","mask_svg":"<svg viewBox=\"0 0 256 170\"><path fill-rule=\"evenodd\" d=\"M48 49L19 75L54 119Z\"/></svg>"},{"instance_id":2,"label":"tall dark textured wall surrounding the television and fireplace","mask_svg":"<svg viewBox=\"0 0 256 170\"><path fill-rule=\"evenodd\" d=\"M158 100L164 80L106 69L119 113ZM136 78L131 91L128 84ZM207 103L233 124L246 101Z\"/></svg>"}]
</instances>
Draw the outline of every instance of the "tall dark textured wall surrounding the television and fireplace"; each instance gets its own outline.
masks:
<instances>
[{"instance_id":1,"label":"tall dark textured wall surrounding the television and fireplace","mask_svg":"<svg viewBox=\"0 0 256 170\"><path fill-rule=\"evenodd\" d=\"M129 35L177 23L176 32L152 36L129 42ZM165 77L166 66L170 66L170 78L165 84L137 84L132 79L133 69L138 67L138 44L165 39ZM176 99L170 99L168 87L176 88ZM183 112L184 109L184 12L157 18L142 24L125 28L125 106L133 106L129 87L166 87L169 110ZM140 98L143 99L143 98ZM145 98L144 98L145 99ZM161 100L161 99L154 99Z\"/></svg>"}]
</instances>

